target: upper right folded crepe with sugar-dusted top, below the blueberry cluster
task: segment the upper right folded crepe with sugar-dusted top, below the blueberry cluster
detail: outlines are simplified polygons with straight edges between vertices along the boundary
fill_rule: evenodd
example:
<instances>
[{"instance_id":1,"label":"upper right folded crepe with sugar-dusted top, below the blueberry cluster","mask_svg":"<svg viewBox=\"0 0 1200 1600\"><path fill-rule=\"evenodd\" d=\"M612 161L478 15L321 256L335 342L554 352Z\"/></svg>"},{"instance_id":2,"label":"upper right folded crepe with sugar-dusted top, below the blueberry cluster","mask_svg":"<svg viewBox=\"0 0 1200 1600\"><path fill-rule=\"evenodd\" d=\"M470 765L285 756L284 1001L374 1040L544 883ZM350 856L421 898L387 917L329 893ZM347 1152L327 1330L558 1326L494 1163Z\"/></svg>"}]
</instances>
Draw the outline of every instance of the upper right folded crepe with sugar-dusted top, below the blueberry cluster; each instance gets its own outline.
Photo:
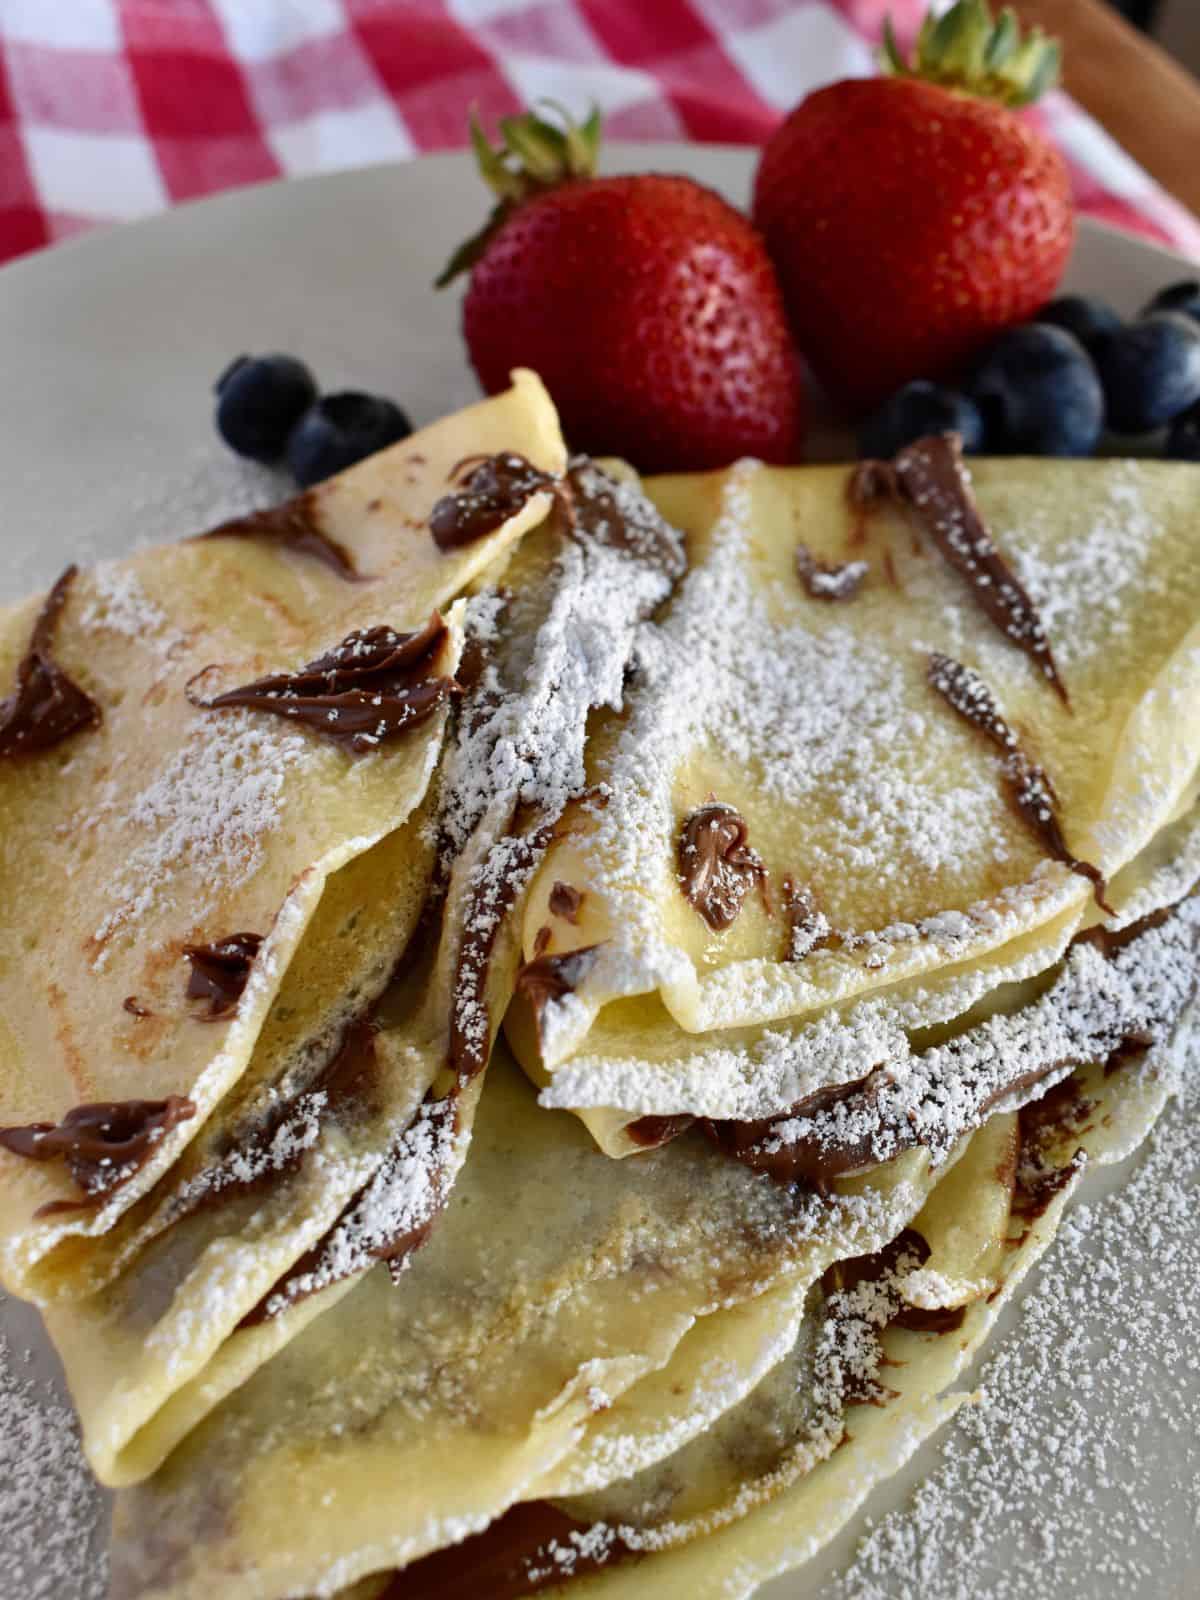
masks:
<instances>
[{"instance_id":1,"label":"upper right folded crepe with sugar-dusted top, below the blueberry cluster","mask_svg":"<svg viewBox=\"0 0 1200 1600\"><path fill-rule=\"evenodd\" d=\"M758 1070L741 1030L816 1037L872 995L944 1019L1059 960L1200 768L1192 467L968 482L930 440L886 469L646 490L691 570L629 715L594 730L602 800L530 896L526 958L549 926L570 982L510 1027L544 1104L610 1155L653 1138L626 1133L640 1117L752 1118L838 1082Z\"/></svg>"}]
</instances>

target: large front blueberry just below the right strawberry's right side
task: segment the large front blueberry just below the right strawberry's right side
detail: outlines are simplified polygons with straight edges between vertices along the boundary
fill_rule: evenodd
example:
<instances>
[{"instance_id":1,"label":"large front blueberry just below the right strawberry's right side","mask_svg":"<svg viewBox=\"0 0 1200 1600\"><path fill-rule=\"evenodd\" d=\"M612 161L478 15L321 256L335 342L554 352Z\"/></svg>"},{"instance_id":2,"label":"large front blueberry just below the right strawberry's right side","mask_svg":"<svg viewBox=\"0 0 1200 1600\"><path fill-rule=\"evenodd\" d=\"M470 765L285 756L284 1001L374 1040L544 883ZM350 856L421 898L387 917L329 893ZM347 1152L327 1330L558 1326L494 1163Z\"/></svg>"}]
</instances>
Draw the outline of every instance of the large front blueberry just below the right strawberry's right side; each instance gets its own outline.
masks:
<instances>
[{"instance_id":1,"label":"large front blueberry just below the right strawberry's right side","mask_svg":"<svg viewBox=\"0 0 1200 1600\"><path fill-rule=\"evenodd\" d=\"M1002 334L968 392L997 454L1090 456L1104 427L1096 368L1074 334L1029 323Z\"/></svg>"}]
</instances>

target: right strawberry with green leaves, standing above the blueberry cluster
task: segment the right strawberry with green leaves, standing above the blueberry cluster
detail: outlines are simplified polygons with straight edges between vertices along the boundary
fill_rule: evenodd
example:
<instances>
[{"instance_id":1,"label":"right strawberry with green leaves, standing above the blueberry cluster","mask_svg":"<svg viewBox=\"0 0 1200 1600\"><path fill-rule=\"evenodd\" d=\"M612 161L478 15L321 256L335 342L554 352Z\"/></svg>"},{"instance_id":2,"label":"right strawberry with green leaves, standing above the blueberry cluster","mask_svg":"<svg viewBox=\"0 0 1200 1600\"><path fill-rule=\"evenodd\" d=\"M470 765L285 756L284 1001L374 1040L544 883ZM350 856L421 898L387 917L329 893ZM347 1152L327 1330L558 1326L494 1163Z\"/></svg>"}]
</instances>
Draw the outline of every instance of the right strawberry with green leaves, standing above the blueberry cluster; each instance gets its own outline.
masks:
<instances>
[{"instance_id":1,"label":"right strawberry with green leaves, standing above the blueberry cluster","mask_svg":"<svg viewBox=\"0 0 1200 1600\"><path fill-rule=\"evenodd\" d=\"M883 66L802 101L754 190L797 344L856 411L1029 318L1074 238L1066 162L1010 109L1056 78L1056 43L958 0L912 66L888 27Z\"/></svg>"}]
</instances>

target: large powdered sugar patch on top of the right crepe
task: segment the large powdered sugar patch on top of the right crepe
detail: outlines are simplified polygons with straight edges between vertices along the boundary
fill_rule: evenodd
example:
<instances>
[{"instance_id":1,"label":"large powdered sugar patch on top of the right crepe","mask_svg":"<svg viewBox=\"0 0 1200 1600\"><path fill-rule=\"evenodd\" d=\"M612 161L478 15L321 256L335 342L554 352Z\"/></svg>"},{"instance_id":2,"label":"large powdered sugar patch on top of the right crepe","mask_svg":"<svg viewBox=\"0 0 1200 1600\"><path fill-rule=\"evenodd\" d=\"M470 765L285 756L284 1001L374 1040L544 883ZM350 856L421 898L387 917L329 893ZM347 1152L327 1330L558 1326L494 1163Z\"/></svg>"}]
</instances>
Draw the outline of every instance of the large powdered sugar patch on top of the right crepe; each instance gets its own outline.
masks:
<instances>
[{"instance_id":1,"label":"large powdered sugar patch on top of the right crepe","mask_svg":"<svg viewBox=\"0 0 1200 1600\"><path fill-rule=\"evenodd\" d=\"M589 858L616 930L597 992L694 984L659 910L675 893L675 784L688 758L746 774L763 802L819 819L795 848L830 890L869 878L877 896L899 893L914 874L982 874L1008 854L990 766L920 760L944 726L920 658L898 658L842 621L787 621L794 595L755 576L757 470L733 469L702 562L637 640L637 693L602 763L606 803L592 808ZM739 794L717 798L747 813Z\"/></svg>"}]
</instances>

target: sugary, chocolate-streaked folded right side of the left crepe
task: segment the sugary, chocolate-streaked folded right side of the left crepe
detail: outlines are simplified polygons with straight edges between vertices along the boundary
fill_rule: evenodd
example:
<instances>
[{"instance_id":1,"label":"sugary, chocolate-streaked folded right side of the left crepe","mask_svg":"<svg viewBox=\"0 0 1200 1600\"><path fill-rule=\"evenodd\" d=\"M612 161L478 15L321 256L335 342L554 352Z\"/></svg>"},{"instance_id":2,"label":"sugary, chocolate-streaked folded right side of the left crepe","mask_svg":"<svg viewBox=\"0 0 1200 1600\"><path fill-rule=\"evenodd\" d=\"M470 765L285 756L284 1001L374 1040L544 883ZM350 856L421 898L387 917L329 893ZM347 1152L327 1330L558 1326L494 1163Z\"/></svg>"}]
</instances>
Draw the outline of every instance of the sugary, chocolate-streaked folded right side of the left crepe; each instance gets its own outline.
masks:
<instances>
[{"instance_id":1,"label":"sugary, chocolate-streaked folded right side of the left crepe","mask_svg":"<svg viewBox=\"0 0 1200 1600\"><path fill-rule=\"evenodd\" d=\"M150 1472L378 1261L398 1272L453 1186L589 710L619 706L634 629L682 565L595 469L565 493L504 592L467 608L427 805L330 880L237 1090L110 1232L107 1278L46 1307L107 1483Z\"/></svg>"}]
</instances>

